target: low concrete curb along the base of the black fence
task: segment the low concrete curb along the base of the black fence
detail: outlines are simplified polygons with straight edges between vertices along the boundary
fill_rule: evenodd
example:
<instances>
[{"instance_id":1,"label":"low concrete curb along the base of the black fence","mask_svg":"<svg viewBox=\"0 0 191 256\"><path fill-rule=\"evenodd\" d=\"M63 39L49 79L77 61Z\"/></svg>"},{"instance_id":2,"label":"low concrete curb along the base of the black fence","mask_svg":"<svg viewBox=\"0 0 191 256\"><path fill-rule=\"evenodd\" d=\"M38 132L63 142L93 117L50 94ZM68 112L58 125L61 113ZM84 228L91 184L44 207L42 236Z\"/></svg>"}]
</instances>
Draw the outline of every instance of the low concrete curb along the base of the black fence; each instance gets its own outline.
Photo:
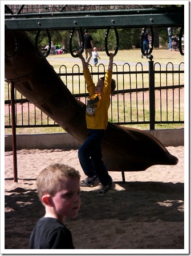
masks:
<instances>
[{"instance_id":1,"label":"low concrete curb along the base of the black fence","mask_svg":"<svg viewBox=\"0 0 191 256\"><path fill-rule=\"evenodd\" d=\"M165 147L184 145L184 129L147 130ZM17 149L78 149L80 144L69 133L17 134ZM5 151L12 151L12 135L5 135Z\"/></svg>"}]
</instances>

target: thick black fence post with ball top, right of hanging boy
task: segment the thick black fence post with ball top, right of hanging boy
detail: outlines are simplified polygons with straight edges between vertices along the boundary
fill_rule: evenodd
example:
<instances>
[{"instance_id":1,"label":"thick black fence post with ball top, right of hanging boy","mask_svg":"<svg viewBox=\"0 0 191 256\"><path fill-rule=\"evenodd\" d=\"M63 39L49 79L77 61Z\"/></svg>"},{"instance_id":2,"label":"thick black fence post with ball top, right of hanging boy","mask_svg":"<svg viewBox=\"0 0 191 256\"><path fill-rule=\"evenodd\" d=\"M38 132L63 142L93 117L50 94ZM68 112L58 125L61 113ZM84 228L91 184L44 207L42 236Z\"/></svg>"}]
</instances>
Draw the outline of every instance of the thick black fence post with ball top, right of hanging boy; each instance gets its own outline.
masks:
<instances>
[{"instance_id":1,"label":"thick black fence post with ball top, right of hanging boy","mask_svg":"<svg viewBox=\"0 0 191 256\"><path fill-rule=\"evenodd\" d=\"M155 130L155 74L153 61L149 61L149 115L150 130Z\"/></svg>"}]
</instances>

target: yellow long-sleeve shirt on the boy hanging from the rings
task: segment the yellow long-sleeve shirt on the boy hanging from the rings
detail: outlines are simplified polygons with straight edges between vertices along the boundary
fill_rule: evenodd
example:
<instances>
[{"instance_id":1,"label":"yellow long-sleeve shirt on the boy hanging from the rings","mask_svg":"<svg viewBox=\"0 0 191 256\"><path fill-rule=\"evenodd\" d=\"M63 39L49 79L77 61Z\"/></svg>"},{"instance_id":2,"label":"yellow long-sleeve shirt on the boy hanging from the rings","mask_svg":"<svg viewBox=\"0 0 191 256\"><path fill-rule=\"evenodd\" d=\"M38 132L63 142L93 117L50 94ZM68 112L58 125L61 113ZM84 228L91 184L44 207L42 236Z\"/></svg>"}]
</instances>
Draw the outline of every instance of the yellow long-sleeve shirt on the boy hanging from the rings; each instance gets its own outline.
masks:
<instances>
[{"instance_id":1,"label":"yellow long-sleeve shirt on the boy hanging from the rings","mask_svg":"<svg viewBox=\"0 0 191 256\"><path fill-rule=\"evenodd\" d=\"M108 109L110 105L112 71L107 70L101 93L95 93L95 84L89 69L84 69L84 78L90 96L87 100L86 123L88 129L106 129L108 124Z\"/></svg>"}]
</instances>

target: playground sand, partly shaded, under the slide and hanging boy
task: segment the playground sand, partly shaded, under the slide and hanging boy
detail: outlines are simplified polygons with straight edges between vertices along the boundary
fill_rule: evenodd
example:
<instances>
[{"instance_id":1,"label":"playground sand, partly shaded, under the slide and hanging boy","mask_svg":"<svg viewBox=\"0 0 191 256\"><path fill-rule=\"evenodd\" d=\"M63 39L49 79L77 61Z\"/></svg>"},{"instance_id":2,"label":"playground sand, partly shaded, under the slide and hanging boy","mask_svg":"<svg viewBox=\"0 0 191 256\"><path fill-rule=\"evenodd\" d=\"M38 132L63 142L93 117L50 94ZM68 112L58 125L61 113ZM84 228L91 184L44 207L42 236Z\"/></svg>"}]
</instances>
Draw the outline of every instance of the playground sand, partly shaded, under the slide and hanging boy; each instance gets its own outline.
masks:
<instances>
[{"instance_id":1,"label":"playground sand, partly shaded, under the slide and hanging boy","mask_svg":"<svg viewBox=\"0 0 191 256\"><path fill-rule=\"evenodd\" d=\"M79 214L65 223L75 249L184 249L184 147L167 149L178 157L176 166L125 172L125 184L121 172L109 172L116 187L104 196L98 195L99 186L82 187ZM17 152L14 183L13 152L5 152L5 249L29 248L31 231L44 214L35 178L57 162L85 178L77 150L23 149Z\"/></svg>"}]
</instances>

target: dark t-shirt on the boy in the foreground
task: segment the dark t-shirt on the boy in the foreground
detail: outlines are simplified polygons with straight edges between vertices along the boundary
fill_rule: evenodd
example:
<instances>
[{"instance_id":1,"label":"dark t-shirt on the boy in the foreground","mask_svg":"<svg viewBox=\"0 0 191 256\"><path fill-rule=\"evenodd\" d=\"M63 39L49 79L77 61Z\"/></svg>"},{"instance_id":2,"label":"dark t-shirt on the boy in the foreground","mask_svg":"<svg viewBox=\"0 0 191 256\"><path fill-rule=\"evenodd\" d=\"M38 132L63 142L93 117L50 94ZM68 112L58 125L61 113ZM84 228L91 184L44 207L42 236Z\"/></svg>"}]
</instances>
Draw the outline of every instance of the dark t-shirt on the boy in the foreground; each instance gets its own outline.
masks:
<instances>
[{"instance_id":1,"label":"dark t-shirt on the boy in the foreground","mask_svg":"<svg viewBox=\"0 0 191 256\"><path fill-rule=\"evenodd\" d=\"M30 249L74 249L71 232L59 220L42 217L32 230Z\"/></svg>"}]
</instances>

